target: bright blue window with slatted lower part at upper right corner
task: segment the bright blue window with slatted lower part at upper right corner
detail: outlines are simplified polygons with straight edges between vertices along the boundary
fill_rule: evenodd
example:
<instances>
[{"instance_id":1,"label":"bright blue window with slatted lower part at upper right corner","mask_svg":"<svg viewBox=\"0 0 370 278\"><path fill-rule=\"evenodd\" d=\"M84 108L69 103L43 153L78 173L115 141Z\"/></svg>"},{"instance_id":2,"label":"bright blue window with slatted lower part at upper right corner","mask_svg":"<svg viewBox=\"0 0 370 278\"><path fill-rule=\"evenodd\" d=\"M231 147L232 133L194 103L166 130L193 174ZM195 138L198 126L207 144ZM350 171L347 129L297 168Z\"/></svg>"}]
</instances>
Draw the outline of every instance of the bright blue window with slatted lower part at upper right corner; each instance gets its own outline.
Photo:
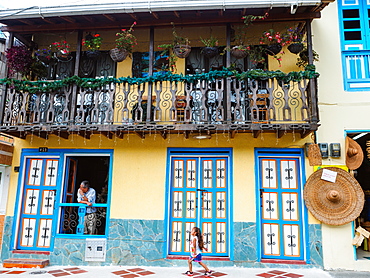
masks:
<instances>
[{"instance_id":1,"label":"bright blue window with slatted lower part at upper right corner","mask_svg":"<svg viewBox=\"0 0 370 278\"><path fill-rule=\"evenodd\" d=\"M370 90L370 1L338 1L346 91Z\"/></svg>"}]
</instances>

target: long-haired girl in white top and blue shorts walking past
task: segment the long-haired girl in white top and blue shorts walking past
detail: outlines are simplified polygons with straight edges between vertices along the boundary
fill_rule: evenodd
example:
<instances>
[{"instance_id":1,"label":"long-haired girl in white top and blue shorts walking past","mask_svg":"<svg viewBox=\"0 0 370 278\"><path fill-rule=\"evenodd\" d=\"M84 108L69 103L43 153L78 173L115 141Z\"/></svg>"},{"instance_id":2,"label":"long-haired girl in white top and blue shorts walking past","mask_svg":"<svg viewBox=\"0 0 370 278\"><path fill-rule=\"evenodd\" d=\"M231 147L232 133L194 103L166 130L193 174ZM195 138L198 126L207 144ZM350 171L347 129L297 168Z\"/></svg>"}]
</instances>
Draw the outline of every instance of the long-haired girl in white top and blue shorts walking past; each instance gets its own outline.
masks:
<instances>
[{"instance_id":1,"label":"long-haired girl in white top and blue shorts walking past","mask_svg":"<svg viewBox=\"0 0 370 278\"><path fill-rule=\"evenodd\" d=\"M200 231L198 227L194 227L191 230L190 235L191 235L191 238L190 238L191 253L190 253L189 260L188 260L189 270L186 271L185 274L188 276L194 275L193 273L193 261L194 261L194 262L199 263L205 269L206 272L204 273L204 275L207 275L207 276L211 275L212 271L209 270L209 268L204 263L202 263L202 250L207 251L207 248L204 247L202 232Z\"/></svg>"}]
</instances>

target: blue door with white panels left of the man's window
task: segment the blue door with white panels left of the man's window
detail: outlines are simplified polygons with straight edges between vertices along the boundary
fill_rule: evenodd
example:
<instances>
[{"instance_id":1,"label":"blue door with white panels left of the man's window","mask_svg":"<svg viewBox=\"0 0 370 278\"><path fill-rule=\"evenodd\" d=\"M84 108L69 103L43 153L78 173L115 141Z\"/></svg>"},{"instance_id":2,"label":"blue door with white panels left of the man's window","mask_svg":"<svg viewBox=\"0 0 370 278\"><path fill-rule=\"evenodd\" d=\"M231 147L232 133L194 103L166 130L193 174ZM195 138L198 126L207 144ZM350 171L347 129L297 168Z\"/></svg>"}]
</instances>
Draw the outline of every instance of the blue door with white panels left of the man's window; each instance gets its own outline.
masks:
<instances>
[{"instance_id":1,"label":"blue door with white panels left of the man's window","mask_svg":"<svg viewBox=\"0 0 370 278\"><path fill-rule=\"evenodd\" d=\"M17 249L50 250L55 225L57 158L27 158Z\"/></svg>"}]
</instances>

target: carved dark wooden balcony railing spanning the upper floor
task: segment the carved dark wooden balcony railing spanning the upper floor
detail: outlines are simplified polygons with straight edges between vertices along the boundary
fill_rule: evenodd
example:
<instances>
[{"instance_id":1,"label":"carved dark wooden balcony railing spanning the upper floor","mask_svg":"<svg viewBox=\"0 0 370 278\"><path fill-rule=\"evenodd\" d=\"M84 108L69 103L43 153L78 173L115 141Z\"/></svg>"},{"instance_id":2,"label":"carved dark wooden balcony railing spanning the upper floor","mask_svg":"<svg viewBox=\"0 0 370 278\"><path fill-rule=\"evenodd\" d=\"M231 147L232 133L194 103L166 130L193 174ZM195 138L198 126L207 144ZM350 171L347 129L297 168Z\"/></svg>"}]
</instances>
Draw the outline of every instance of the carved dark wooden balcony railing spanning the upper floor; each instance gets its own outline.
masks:
<instances>
[{"instance_id":1,"label":"carved dark wooden balcony railing spanning the upper floor","mask_svg":"<svg viewBox=\"0 0 370 278\"><path fill-rule=\"evenodd\" d=\"M316 77L284 83L222 71L214 76L194 75L191 81L167 76L135 83L72 77L8 84L1 89L6 101L0 132L65 139L73 133L89 139L93 134L123 138L132 133L141 138L154 133L163 138L170 133L186 138L203 133L258 137L262 131L305 137L317 130Z\"/></svg>"}]
</instances>

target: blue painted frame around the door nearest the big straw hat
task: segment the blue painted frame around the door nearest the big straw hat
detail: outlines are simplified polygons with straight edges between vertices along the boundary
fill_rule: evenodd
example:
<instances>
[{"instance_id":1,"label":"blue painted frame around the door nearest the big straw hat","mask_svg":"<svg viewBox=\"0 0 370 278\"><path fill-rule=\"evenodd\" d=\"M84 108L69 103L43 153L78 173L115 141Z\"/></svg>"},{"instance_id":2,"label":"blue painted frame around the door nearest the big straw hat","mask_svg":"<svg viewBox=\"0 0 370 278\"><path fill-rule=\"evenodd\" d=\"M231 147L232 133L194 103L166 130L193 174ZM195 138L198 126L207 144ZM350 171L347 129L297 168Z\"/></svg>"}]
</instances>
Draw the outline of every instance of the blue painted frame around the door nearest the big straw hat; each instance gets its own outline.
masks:
<instances>
[{"instance_id":1,"label":"blue painted frame around the door nearest the big straw hat","mask_svg":"<svg viewBox=\"0 0 370 278\"><path fill-rule=\"evenodd\" d=\"M255 188L256 188L256 232L257 232L257 261L261 261L262 259L262 226L261 226L261 198L260 198L260 171L259 171L259 158L262 156L266 157L295 157L298 158L299 161L299 173L298 182L300 185L300 194L303 198L303 189L304 189L304 182L306 180L306 170L305 170L305 156L304 156L304 149L303 148L286 148L286 149L278 149L278 148L255 148L254 149L254 160L255 160ZM303 258L307 263L310 263L310 245L309 245L309 228L308 228L308 211L305 207L303 201L301 202L300 208L302 209L302 228L304 229L302 235L302 243L305 245L302 248L304 254Z\"/></svg>"}]
</instances>

